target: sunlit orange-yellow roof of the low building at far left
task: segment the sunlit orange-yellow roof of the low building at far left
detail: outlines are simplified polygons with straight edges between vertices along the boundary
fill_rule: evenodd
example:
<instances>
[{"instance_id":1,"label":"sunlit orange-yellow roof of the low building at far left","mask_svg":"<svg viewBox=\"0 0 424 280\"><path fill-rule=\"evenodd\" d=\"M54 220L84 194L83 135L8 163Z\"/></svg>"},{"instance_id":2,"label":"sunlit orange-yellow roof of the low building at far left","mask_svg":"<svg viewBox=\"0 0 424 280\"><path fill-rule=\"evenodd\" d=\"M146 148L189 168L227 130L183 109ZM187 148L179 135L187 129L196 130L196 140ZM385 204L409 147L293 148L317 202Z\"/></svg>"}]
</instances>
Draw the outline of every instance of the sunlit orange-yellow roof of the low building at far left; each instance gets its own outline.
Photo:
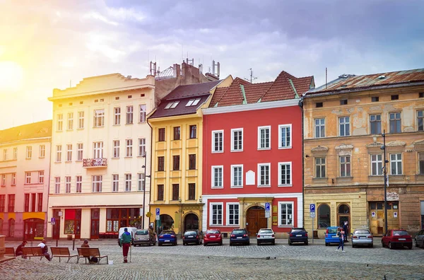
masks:
<instances>
[{"instance_id":1,"label":"sunlit orange-yellow roof of the low building at far left","mask_svg":"<svg viewBox=\"0 0 424 280\"><path fill-rule=\"evenodd\" d=\"M52 136L52 119L0 130L0 144Z\"/></svg>"}]
</instances>

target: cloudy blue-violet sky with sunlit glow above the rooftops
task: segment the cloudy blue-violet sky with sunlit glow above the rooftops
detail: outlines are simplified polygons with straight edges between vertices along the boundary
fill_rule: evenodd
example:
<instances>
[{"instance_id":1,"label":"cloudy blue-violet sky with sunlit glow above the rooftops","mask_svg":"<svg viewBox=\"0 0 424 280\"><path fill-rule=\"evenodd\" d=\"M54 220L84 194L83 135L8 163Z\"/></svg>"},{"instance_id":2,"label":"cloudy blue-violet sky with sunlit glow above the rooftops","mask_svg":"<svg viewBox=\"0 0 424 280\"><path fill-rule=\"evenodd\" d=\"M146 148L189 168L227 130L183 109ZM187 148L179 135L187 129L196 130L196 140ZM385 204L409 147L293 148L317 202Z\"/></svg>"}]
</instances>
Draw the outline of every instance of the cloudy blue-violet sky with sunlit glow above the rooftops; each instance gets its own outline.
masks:
<instances>
[{"instance_id":1,"label":"cloudy blue-violet sky with sunlit glow above the rooftops","mask_svg":"<svg viewBox=\"0 0 424 280\"><path fill-rule=\"evenodd\" d=\"M273 81L424 68L424 1L0 0L0 129L52 118L53 88L194 59Z\"/></svg>"}]
</instances>

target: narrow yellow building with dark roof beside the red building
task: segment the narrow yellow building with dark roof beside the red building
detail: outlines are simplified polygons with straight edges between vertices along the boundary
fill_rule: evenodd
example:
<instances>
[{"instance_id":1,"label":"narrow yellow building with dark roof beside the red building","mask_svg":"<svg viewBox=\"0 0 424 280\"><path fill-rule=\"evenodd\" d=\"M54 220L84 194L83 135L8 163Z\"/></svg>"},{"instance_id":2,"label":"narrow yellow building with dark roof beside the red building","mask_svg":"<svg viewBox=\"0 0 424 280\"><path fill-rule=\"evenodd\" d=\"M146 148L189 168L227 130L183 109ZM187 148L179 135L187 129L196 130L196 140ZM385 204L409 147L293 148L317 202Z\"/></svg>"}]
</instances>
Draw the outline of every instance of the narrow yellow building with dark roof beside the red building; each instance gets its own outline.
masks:
<instances>
[{"instance_id":1,"label":"narrow yellow building with dark roof beside the red building","mask_svg":"<svg viewBox=\"0 0 424 280\"><path fill-rule=\"evenodd\" d=\"M148 116L152 127L151 222L176 233L201 229L202 108L232 77L179 86Z\"/></svg>"}]
</instances>

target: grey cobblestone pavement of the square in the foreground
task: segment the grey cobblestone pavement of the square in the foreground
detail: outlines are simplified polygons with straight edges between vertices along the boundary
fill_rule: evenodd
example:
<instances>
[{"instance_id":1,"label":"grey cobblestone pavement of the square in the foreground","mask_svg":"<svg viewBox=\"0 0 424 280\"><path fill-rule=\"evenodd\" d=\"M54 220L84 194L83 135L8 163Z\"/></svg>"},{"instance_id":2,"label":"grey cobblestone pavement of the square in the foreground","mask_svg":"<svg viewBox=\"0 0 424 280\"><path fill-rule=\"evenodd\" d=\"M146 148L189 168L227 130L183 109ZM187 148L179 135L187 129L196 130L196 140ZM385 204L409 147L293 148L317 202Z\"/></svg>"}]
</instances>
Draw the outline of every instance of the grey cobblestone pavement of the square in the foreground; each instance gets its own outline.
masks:
<instances>
[{"instance_id":1,"label":"grey cobblestone pavement of the square in the foreground","mask_svg":"<svg viewBox=\"0 0 424 280\"><path fill-rule=\"evenodd\" d=\"M251 240L253 241L253 239ZM75 247L79 247L80 241ZM18 243L6 242L8 247ZM37 245L37 244L33 244ZM56 245L49 241L49 246ZM59 246L72 250L70 241ZM389 250L375 240L374 248L352 248L336 252L322 240L308 246L288 246L277 240L275 246L251 242L250 246L196 245L132 247L131 263L122 263L116 240L90 241L108 255L114 264L76 264L47 259L13 259L0 264L2 279L424 279L424 249ZM73 252L73 251L71 251ZM76 252L76 250L75 250Z\"/></svg>"}]
</instances>

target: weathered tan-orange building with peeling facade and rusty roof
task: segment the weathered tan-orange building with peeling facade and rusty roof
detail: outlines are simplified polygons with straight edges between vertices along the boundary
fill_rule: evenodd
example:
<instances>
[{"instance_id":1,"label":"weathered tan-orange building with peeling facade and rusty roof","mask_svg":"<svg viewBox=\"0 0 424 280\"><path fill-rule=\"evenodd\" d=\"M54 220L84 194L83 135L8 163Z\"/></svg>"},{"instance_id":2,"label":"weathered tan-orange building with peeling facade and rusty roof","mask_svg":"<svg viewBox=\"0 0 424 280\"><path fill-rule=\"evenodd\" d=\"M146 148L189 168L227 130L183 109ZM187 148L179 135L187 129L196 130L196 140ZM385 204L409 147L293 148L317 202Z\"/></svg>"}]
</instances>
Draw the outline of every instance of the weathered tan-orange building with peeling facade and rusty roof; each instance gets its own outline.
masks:
<instances>
[{"instance_id":1,"label":"weathered tan-orange building with peeling facade and rusty roof","mask_svg":"<svg viewBox=\"0 0 424 280\"><path fill-rule=\"evenodd\" d=\"M387 228L423 228L423 80L424 69L343 75L305 94L305 228L384 234L384 131Z\"/></svg>"}]
</instances>

